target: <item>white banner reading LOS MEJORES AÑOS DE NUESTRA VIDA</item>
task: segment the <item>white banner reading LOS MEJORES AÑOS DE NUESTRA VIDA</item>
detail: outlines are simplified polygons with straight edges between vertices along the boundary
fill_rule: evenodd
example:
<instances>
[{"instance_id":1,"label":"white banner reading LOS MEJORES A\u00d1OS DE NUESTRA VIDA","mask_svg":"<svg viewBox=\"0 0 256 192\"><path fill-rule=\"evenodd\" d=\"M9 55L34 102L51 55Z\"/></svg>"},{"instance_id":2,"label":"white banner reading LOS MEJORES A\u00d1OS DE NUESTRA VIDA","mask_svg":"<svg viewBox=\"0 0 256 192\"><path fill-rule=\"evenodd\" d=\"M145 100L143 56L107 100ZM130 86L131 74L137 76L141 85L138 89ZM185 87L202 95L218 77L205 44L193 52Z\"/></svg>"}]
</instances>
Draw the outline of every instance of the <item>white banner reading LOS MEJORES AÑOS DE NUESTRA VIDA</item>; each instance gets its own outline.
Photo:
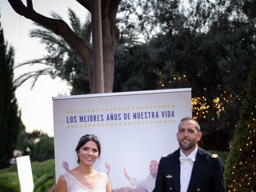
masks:
<instances>
[{"instance_id":1,"label":"white banner reading LOS MEJORES A\u00d1OS DE NUESTRA VIDA","mask_svg":"<svg viewBox=\"0 0 256 192\"><path fill-rule=\"evenodd\" d=\"M176 132L192 117L191 88L53 97L56 181L78 166L81 136L98 137L102 153L94 169L107 172L111 188L131 186L124 176L144 180L151 160L178 148ZM65 168L64 168L65 167ZM121 190L120 190L121 191Z\"/></svg>"}]
</instances>

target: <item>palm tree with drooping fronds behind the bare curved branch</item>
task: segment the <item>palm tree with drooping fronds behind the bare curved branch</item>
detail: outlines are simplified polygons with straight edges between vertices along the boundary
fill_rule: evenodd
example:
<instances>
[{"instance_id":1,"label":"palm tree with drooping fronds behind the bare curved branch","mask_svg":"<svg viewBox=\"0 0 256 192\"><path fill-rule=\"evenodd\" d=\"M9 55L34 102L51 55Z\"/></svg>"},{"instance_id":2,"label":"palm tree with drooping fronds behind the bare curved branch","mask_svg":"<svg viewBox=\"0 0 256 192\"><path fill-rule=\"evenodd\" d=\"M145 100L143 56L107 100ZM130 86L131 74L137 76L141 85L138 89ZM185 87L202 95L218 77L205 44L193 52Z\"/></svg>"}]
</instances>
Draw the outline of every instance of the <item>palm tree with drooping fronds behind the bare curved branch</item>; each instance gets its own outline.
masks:
<instances>
[{"instance_id":1,"label":"palm tree with drooping fronds behind the bare curved branch","mask_svg":"<svg viewBox=\"0 0 256 192\"><path fill-rule=\"evenodd\" d=\"M88 47L91 47L91 32L92 25L90 22L90 14L86 16L86 21L81 24L80 19L75 12L68 8L69 20L72 30L84 40ZM54 19L61 19L62 17L56 13L52 13ZM41 42L45 44L47 55L43 58L28 60L19 64L16 68L25 65L43 64L44 68L29 71L20 75L16 79L16 85L20 86L29 78L33 78L32 86L36 83L39 76L50 75L52 79L60 77L72 87L70 94L86 94L90 92L89 78L87 68L78 54L69 46L69 44L52 29L46 28L43 25L35 23L40 29L30 31L30 37L40 38Z\"/></svg>"}]
</instances>

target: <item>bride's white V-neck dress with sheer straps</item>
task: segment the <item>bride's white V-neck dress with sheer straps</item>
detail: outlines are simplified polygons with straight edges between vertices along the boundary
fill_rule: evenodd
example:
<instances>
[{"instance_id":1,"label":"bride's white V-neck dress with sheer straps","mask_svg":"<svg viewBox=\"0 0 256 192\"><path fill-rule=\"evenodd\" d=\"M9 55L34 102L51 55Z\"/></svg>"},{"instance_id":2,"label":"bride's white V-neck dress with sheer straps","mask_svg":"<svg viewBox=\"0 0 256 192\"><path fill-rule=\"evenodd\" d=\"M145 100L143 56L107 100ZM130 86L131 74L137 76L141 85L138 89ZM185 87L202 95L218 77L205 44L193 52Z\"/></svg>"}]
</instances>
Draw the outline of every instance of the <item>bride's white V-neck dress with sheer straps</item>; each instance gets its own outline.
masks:
<instances>
[{"instance_id":1,"label":"bride's white V-neck dress with sheer straps","mask_svg":"<svg viewBox=\"0 0 256 192\"><path fill-rule=\"evenodd\" d=\"M63 174L66 179L68 191L67 192L106 192L107 174L102 172L97 185L92 189L88 189L80 183L74 176L69 173Z\"/></svg>"}]
</instances>

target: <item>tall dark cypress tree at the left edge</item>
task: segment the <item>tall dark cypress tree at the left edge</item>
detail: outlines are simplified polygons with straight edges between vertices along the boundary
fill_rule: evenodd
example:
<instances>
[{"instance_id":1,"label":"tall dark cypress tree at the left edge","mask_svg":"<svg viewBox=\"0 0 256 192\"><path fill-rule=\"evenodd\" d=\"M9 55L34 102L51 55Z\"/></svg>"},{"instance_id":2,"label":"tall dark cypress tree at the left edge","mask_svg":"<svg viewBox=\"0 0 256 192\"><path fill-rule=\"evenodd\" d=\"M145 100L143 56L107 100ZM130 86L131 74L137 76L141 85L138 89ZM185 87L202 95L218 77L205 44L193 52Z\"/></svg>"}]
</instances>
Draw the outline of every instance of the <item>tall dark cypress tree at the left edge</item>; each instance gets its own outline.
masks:
<instances>
[{"instance_id":1,"label":"tall dark cypress tree at the left edge","mask_svg":"<svg viewBox=\"0 0 256 192\"><path fill-rule=\"evenodd\" d=\"M14 50L8 48L0 23L0 168L9 165L18 132L24 128L13 84Z\"/></svg>"}]
</instances>

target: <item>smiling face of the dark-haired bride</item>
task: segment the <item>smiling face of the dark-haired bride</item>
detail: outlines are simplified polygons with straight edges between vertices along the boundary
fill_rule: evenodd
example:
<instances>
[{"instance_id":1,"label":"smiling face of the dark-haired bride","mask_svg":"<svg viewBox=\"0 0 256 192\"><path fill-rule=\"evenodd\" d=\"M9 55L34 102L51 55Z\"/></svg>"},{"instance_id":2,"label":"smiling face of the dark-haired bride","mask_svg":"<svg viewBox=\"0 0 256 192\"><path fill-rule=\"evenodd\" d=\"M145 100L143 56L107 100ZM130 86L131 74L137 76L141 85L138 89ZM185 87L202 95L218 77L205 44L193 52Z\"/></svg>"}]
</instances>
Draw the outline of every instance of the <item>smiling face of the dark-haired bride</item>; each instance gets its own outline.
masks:
<instances>
[{"instance_id":1,"label":"smiling face of the dark-haired bride","mask_svg":"<svg viewBox=\"0 0 256 192\"><path fill-rule=\"evenodd\" d=\"M96 142L86 142L77 152L80 163L84 165L93 165L99 156L99 150Z\"/></svg>"}]
</instances>

